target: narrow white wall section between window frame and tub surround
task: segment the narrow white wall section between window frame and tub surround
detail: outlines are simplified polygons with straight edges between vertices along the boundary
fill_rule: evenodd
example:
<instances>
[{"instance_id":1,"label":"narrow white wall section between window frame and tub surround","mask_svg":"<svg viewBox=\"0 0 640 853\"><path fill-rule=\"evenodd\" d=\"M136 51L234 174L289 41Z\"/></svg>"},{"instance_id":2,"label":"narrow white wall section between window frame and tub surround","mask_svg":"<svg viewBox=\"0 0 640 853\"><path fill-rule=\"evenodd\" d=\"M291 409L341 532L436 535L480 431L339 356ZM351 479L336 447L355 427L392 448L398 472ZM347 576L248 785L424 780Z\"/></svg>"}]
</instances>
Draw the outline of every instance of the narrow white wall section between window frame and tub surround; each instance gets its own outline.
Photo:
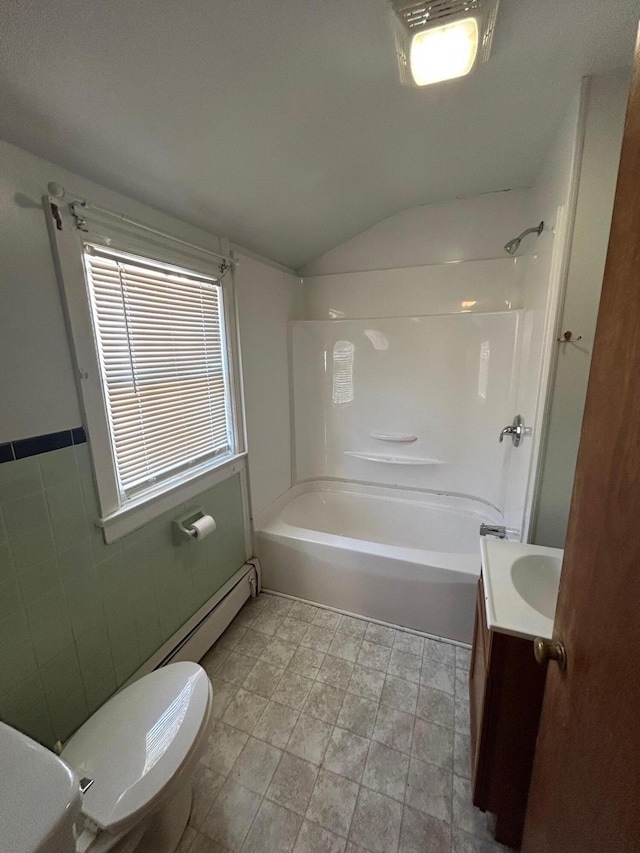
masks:
<instances>
[{"instance_id":1,"label":"narrow white wall section between window frame and tub surround","mask_svg":"<svg viewBox=\"0 0 640 853\"><path fill-rule=\"evenodd\" d=\"M287 321L300 279L240 255L235 284L255 516L291 486Z\"/></svg>"}]
</instances>

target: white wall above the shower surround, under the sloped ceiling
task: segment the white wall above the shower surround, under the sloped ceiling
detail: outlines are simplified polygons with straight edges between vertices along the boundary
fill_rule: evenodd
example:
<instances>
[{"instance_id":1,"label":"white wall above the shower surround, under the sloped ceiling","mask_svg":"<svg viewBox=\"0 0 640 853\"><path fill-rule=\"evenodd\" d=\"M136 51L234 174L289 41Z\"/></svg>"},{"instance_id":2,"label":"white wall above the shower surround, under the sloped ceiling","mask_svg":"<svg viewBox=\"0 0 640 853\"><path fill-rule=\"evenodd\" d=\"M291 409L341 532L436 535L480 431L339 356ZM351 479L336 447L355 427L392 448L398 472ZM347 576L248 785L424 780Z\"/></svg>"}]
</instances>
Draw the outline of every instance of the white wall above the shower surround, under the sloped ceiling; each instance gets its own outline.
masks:
<instances>
[{"instance_id":1,"label":"white wall above the shower surround, under the sloped ceiling","mask_svg":"<svg viewBox=\"0 0 640 853\"><path fill-rule=\"evenodd\" d=\"M529 191L508 190L413 207L305 264L304 277L504 257L528 227Z\"/></svg>"}]
</instances>

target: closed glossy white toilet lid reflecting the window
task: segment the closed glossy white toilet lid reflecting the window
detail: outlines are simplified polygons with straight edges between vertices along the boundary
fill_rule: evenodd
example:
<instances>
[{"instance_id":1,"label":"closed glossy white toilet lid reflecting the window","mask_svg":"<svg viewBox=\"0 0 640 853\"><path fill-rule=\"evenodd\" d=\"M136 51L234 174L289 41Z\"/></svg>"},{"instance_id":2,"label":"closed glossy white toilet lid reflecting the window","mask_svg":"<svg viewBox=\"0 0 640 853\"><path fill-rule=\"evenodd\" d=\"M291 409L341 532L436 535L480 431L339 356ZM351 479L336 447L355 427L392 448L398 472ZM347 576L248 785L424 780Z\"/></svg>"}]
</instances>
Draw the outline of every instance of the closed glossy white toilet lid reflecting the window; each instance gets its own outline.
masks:
<instances>
[{"instance_id":1,"label":"closed glossy white toilet lid reflecting the window","mask_svg":"<svg viewBox=\"0 0 640 853\"><path fill-rule=\"evenodd\" d=\"M184 764L208 716L210 691L201 666L172 663L96 711L61 756L94 780L83 813L112 832L133 822Z\"/></svg>"}]
</instances>

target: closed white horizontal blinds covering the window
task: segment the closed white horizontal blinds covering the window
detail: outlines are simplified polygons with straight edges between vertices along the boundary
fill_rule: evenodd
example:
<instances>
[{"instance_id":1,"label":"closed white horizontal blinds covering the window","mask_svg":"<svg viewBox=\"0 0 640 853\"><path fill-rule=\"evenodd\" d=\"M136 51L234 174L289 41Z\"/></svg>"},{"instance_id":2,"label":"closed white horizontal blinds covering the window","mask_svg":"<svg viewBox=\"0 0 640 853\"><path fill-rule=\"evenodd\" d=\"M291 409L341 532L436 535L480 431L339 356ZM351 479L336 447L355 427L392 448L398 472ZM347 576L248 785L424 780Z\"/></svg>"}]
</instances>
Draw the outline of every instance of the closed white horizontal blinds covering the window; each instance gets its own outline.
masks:
<instances>
[{"instance_id":1,"label":"closed white horizontal blinds covering the window","mask_svg":"<svg viewBox=\"0 0 640 853\"><path fill-rule=\"evenodd\" d=\"M222 287L84 245L121 500L233 453Z\"/></svg>"}]
</instances>

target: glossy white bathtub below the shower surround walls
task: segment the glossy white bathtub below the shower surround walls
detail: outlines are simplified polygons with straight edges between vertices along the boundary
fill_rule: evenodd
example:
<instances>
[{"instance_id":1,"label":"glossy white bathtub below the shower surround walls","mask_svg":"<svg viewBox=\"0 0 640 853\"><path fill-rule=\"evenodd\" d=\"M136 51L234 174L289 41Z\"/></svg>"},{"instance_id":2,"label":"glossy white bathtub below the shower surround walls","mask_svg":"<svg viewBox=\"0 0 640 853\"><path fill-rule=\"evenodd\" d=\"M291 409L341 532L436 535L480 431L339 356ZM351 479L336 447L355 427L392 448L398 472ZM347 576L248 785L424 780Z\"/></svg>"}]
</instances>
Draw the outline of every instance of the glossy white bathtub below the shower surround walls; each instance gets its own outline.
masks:
<instances>
[{"instance_id":1,"label":"glossy white bathtub below the shower surround walls","mask_svg":"<svg viewBox=\"0 0 640 853\"><path fill-rule=\"evenodd\" d=\"M255 520L265 589L470 643L481 522L471 498L317 480Z\"/></svg>"}]
</instances>

